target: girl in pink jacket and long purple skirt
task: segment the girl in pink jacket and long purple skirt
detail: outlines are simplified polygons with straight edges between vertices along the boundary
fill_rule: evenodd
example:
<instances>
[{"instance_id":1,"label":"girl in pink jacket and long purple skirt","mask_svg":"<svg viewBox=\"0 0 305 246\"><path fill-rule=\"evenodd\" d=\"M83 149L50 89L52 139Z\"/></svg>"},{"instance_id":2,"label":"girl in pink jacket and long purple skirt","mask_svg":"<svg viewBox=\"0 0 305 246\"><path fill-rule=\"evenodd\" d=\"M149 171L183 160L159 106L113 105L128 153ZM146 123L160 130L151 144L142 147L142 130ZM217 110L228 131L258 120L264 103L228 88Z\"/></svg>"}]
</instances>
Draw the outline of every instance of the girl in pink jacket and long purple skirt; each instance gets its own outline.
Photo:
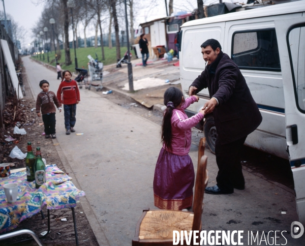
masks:
<instances>
[{"instance_id":1,"label":"girl in pink jacket and long purple skirt","mask_svg":"<svg viewBox=\"0 0 305 246\"><path fill-rule=\"evenodd\" d=\"M169 87L164 93L161 148L155 169L154 199L160 209L182 210L193 203L195 172L189 156L192 127L203 119L204 111L188 118L185 109L199 97L184 99L182 91Z\"/></svg>"}]
</instances>

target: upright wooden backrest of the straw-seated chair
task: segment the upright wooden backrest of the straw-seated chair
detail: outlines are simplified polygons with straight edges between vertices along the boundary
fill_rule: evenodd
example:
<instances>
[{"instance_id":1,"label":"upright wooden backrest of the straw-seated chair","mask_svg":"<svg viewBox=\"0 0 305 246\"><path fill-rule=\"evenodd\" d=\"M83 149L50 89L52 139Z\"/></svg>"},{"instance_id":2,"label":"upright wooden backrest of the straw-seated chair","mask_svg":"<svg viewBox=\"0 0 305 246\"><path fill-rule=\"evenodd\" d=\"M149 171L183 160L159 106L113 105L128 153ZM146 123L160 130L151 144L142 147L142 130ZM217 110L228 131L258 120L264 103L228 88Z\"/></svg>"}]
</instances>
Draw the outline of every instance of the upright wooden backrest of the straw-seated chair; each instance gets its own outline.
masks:
<instances>
[{"instance_id":1,"label":"upright wooden backrest of the straw-seated chair","mask_svg":"<svg viewBox=\"0 0 305 246\"><path fill-rule=\"evenodd\" d=\"M204 154L205 148L205 138L200 139L199 149L198 149L198 167L197 175L195 181L195 195L193 202L194 220L192 230L201 230L201 214L203 210L203 195L204 189L206 188L208 181L208 174L206 170L207 156L202 156Z\"/></svg>"}]
</instances>

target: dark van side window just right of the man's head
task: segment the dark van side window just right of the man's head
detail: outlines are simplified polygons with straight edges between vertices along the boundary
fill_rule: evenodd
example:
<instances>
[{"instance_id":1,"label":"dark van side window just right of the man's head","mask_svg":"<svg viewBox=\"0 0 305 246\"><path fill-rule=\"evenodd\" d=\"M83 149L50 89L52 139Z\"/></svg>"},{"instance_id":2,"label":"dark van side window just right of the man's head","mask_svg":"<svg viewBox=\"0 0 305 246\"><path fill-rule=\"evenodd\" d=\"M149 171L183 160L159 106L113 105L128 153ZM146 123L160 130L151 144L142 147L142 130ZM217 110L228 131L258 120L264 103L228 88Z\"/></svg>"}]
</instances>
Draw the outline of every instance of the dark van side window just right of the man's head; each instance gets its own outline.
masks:
<instances>
[{"instance_id":1,"label":"dark van side window just right of the man's head","mask_svg":"<svg viewBox=\"0 0 305 246\"><path fill-rule=\"evenodd\" d=\"M281 71L274 28L234 33L231 50L232 60L239 69Z\"/></svg>"}]
</instances>

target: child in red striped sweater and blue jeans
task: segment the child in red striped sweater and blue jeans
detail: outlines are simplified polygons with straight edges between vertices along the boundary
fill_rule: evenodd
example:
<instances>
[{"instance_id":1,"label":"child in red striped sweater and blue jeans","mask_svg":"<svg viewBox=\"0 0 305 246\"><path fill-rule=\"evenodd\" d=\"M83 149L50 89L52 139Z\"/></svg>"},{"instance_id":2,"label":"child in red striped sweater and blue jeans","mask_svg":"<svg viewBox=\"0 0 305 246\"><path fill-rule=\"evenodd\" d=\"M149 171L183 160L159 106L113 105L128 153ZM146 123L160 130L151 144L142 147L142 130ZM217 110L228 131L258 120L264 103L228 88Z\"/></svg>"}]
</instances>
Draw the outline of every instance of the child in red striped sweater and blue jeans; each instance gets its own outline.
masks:
<instances>
[{"instance_id":1,"label":"child in red striped sweater and blue jeans","mask_svg":"<svg viewBox=\"0 0 305 246\"><path fill-rule=\"evenodd\" d=\"M79 89L75 80L71 79L72 74L70 71L63 72L62 83L60 83L57 90L57 98L59 103L64 104L65 111L65 128L66 134L70 135L75 132L74 126L76 122L76 104L79 103Z\"/></svg>"}]
</instances>

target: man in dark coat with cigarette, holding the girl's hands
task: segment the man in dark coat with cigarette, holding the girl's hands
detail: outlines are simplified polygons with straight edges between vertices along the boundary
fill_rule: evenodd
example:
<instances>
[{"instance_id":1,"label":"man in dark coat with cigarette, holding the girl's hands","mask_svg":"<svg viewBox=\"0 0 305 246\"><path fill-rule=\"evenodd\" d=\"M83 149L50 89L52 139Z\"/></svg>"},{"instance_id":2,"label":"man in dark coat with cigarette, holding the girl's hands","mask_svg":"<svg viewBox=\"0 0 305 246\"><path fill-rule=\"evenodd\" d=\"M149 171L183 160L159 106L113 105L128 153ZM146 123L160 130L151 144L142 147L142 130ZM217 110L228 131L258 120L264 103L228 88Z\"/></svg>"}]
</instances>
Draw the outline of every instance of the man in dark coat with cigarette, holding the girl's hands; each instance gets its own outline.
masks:
<instances>
[{"instance_id":1,"label":"man in dark coat with cigarette, holding the girl's hands","mask_svg":"<svg viewBox=\"0 0 305 246\"><path fill-rule=\"evenodd\" d=\"M212 113L217 129L216 162L219 168L217 185L207 187L208 194L231 194L245 189L240 152L247 136L261 123L262 116L252 98L245 78L231 58L221 51L220 43L209 39L202 45L205 70L194 80L189 95L208 88L210 100L203 108Z\"/></svg>"}]
</instances>

